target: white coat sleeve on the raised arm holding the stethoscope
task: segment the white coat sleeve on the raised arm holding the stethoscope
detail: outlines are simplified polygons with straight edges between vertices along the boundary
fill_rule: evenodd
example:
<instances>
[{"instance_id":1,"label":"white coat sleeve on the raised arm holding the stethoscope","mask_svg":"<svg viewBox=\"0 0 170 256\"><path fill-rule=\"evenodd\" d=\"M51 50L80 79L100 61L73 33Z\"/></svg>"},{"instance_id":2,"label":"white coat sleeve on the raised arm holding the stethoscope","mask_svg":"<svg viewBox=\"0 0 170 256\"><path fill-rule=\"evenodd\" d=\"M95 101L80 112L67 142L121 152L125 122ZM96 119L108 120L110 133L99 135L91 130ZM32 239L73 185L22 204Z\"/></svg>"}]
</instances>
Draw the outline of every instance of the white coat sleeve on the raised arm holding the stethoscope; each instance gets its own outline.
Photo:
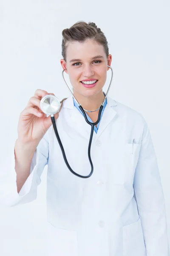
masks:
<instances>
[{"instance_id":1,"label":"white coat sleeve on the raised arm holding the stethoscope","mask_svg":"<svg viewBox=\"0 0 170 256\"><path fill-rule=\"evenodd\" d=\"M41 183L41 175L48 163L48 135L42 137L34 152L30 175L23 184L20 192L17 192L14 148L12 148L11 161L3 164L0 173L0 204L15 206L25 204L37 198L37 186Z\"/></svg>"}]
</instances>

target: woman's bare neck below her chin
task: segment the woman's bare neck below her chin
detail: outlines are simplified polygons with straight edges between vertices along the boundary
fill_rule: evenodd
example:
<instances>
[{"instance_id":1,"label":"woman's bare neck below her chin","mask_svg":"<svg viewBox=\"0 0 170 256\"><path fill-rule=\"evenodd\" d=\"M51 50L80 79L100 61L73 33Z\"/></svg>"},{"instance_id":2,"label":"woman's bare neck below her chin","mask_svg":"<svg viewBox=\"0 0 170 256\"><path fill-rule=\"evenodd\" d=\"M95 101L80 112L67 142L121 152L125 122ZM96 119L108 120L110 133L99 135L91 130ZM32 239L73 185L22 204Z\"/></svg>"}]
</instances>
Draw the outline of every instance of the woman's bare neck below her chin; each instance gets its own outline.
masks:
<instances>
[{"instance_id":1,"label":"woman's bare neck below her chin","mask_svg":"<svg viewBox=\"0 0 170 256\"><path fill-rule=\"evenodd\" d=\"M73 95L77 99L79 104L82 106L82 108L88 111L95 111L96 109L98 109L102 105L102 102L105 99L105 95L102 92L102 90L96 95L88 96L88 97L81 95L76 91L74 91Z\"/></svg>"}]
</instances>

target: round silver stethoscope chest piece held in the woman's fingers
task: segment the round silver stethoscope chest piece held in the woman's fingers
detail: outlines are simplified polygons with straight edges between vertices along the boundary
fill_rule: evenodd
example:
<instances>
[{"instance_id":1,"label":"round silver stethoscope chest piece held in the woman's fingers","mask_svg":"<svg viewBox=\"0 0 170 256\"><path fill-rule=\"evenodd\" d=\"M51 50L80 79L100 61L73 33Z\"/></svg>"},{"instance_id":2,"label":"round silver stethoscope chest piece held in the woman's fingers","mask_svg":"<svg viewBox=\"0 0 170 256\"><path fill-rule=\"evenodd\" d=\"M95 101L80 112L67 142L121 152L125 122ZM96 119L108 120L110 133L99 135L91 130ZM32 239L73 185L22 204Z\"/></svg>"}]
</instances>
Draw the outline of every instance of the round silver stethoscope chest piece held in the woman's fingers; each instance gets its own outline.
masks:
<instances>
[{"instance_id":1,"label":"round silver stethoscope chest piece held in the woman's fingers","mask_svg":"<svg viewBox=\"0 0 170 256\"><path fill-rule=\"evenodd\" d=\"M40 108L47 115L54 115L59 111L60 107L59 99L51 94L45 95L40 101Z\"/></svg>"}]
</instances>

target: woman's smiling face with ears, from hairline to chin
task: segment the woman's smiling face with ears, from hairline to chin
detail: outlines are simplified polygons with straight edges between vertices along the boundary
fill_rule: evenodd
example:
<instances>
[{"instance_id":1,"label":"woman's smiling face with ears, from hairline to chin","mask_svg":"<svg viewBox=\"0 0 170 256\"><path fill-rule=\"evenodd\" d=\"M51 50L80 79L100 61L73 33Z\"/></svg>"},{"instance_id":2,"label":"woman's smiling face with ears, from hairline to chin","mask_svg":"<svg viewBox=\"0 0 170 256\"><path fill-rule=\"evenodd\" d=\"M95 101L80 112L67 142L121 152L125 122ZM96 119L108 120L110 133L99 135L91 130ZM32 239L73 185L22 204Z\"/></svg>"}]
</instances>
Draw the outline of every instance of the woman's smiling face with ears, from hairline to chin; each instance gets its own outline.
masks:
<instances>
[{"instance_id":1,"label":"woman's smiling face with ears, from hairline to chin","mask_svg":"<svg viewBox=\"0 0 170 256\"><path fill-rule=\"evenodd\" d=\"M101 44L88 39L83 43L69 42L66 62L62 59L60 63L63 69L67 68L65 72L69 75L75 94L94 96L102 91L105 85L107 70L109 70L107 65L111 65L111 58L111 54L107 58ZM97 81L91 85L83 84L83 80Z\"/></svg>"}]
</instances>

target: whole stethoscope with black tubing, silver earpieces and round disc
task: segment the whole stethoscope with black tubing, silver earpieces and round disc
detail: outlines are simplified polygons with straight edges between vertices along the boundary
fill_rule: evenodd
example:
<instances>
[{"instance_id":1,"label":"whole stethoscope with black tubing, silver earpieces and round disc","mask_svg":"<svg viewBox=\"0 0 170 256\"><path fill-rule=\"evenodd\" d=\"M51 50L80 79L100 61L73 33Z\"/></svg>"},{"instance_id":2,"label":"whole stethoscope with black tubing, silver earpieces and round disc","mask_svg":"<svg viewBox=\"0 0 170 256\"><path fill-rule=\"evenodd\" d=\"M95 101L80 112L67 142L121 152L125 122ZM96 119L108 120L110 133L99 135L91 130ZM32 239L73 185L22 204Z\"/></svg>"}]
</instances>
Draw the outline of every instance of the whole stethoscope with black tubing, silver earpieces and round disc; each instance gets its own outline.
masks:
<instances>
[{"instance_id":1,"label":"whole stethoscope with black tubing, silver earpieces and round disc","mask_svg":"<svg viewBox=\"0 0 170 256\"><path fill-rule=\"evenodd\" d=\"M108 65L108 67L110 67ZM112 75L111 75L111 82L112 82L112 79L113 79L113 69L110 67L111 69L111 72L112 72ZM62 70L62 78L64 79L64 71L66 70L66 68L64 70ZM65 79L64 79L65 81ZM64 157L64 161L66 163L66 166L68 167L68 169L76 176L80 177L80 178L89 178L91 177L91 175L93 174L93 171L94 171L94 166L93 166L93 163L92 163L92 160L91 160L91 154L90 154L90 151L91 151L91 142L92 142L92 138L93 138L93 134L94 134L94 126L97 125L100 121L100 118L101 118L101 113L102 113L102 109L103 109L103 106L105 104L105 100L107 98L107 95L108 95L108 92L110 90L110 87L111 87L111 82L109 84L109 87L108 87L108 91L107 93L105 94L105 99L104 101L102 102L102 105L98 108L99 109L99 115L98 115L98 119L96 122L90 122L88 121L88 118L86 116L86 113L85 111L87 112L95 112L97 111L98 109L96 109L95 111L88 111L88 110L85 110L84 108L82 108L82 106L79 104L79 102L77 101L77 99L75 98L75 96L73 95L73 93L71 92L70 88L68 87L68 84L66 83L65 81L65 84L66 86L68 87L68 90L71 92L72 96L74 97L75 101L77 102L77 104L79 105L79 108L81 109L84 117L85 117L85 121L91 125L91 135L90 135L90 140L89 140L89 144L88 144L88 159L89 159L89 162L91 164L91 173L87 176L82 176L82 175L79 175L78 173L74 172L71 167L69 166L68 164L68 161L67 161L67 158L65 156L65 151L64 151L64 148L62 146L62 142L59 138L59 134L58 134L58 131L57 131L57 126L56 126L56 121L55 121L55 118L54 118L54 114L59 112L59 109L61 108L61 102L59 101L59 99L54 96L54 95L45 95L44 97L42 97L41 101L40 101L40 108L42 110L42 112L44 112L45 114L47 115L50 115L51 116L51 121L52 121L52 124L53 124L53 127L54 127L54 132L56 134L56 137L57 137L57 140L58 140L58 143L59 143L59 146L61 148L61 151L62 151L62 155Z\"/></svg>"}]
</instances>

